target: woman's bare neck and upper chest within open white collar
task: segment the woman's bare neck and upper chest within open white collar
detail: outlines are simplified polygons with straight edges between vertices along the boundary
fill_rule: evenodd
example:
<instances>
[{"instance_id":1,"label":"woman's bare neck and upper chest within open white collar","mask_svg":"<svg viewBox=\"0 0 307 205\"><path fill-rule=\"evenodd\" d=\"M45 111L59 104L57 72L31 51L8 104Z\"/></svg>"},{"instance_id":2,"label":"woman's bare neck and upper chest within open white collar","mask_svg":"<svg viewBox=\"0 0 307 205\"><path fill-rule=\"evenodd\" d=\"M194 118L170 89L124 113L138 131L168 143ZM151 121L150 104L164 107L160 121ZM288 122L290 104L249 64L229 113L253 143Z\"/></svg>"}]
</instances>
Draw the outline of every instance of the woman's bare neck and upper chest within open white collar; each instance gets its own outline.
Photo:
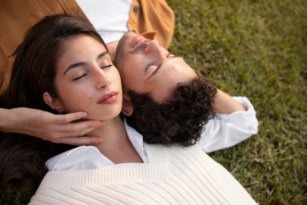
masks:
<instances>
[{"instance_id":1,"label":"woman's bare neck and upper chest within open white collar","mask_svg":"<svg viewBox=\"0 0 307 205\"><path fill-rule=\"evenodd\" d=\"M100 129L86 136L99 136L103 142L95 145L113 163L143 162L131 144L126 127L120 116L109 119Z\"/></svg>"}]
</instances>

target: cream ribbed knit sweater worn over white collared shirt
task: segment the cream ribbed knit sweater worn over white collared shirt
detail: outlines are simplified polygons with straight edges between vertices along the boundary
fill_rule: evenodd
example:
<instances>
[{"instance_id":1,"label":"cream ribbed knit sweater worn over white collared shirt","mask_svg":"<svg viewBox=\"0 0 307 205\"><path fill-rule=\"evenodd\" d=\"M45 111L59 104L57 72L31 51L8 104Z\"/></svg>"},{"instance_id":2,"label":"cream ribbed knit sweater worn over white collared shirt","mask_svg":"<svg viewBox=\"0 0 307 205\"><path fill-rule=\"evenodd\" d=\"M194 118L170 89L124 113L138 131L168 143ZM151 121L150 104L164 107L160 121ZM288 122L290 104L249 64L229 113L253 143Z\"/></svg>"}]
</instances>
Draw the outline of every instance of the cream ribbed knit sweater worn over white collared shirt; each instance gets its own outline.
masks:
<instances>
[{"instance_id":1,"label":"cream ribbed knit sweater worn over white collared shirt","mask_svg":"<svg viewBox=\"0 0 307 205\"><path fill-rule=\"evenodd\" d=\"M29 205L256 205L198 146L145 146L149 163L48 172Z\"/></svg>"}]
</instances>

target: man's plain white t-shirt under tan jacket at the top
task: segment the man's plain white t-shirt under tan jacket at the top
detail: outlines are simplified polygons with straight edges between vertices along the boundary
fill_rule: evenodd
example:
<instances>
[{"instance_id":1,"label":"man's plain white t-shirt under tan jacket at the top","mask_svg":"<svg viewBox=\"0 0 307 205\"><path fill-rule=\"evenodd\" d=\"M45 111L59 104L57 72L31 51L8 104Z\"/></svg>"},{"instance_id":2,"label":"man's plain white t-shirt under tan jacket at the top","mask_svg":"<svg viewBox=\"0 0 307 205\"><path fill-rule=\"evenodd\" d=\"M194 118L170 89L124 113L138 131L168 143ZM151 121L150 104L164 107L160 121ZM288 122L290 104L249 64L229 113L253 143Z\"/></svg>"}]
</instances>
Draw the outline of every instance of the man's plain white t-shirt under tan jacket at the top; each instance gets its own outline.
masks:
<instances>
[{"instance_id":1,"label":"man's plain white t-shirt under tan jacket at the top","mask_svg":"<svg viewBox=\"0 0 307 205\"><path fill-rule=\"evenodd\" d=\"M105 43L118 41L128 32L132 0L76 0Z\"/></svg>"}]
</instances>

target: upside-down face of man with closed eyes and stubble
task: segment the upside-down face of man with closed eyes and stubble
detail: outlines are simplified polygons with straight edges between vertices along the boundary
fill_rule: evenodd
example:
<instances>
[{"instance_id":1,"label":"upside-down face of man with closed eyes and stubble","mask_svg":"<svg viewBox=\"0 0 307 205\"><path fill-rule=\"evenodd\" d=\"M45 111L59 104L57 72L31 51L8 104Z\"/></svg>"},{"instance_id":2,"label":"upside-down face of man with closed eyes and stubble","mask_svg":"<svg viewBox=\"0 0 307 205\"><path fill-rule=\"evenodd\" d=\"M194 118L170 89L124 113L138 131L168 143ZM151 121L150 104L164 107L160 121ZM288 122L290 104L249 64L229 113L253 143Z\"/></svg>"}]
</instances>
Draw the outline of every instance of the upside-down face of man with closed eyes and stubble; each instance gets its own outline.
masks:
<instances>
[{"instance_id":1,"label":"upside-down face of man with closed eyes and stubble","mask_svg":"<svg viewBox=\"0 0 307 205\"><path fill-rule=\"evenodd\" d=\"M148 93L163 102L178 83L197 77L194 70L178 56L170 54L155 40L134 32L126 33L118 43L115 65L123 82L123 91Z\"/></svg>"}]
</instances>

